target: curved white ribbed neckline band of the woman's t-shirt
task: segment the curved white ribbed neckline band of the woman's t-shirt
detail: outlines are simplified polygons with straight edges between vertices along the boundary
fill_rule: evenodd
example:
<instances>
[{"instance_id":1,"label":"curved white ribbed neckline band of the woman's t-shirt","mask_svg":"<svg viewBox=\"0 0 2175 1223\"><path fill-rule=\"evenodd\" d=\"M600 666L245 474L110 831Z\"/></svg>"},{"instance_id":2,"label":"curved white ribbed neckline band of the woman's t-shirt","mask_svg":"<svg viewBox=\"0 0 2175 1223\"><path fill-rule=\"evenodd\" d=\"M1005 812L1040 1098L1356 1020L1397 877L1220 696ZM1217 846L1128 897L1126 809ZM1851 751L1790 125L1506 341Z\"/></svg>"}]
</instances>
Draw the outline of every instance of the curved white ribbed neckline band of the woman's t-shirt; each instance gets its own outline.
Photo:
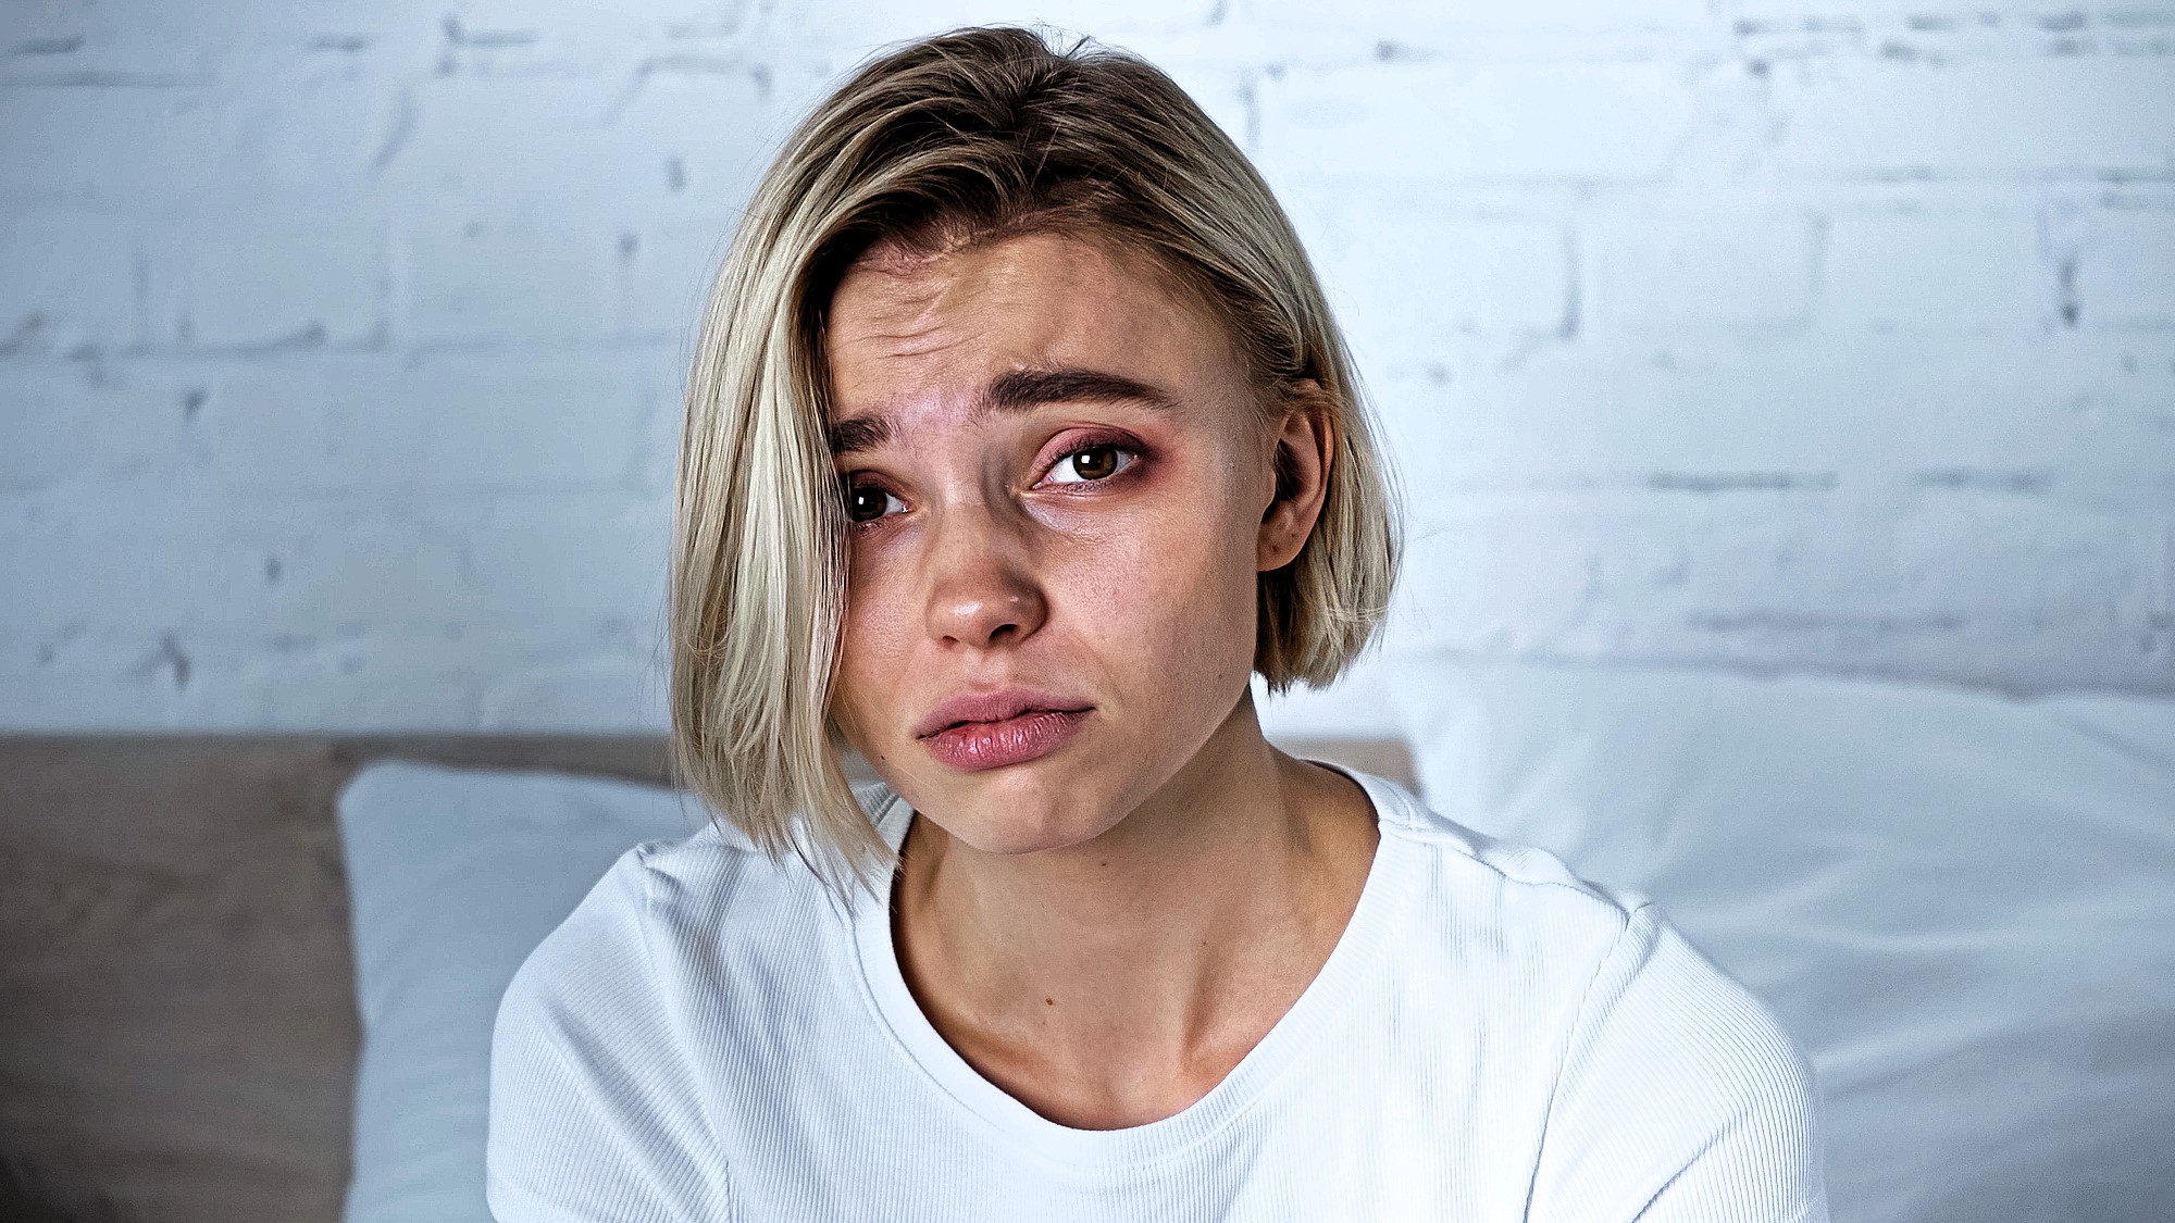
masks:
<instances>
[{"instance_id":1,"label":"curved white ribbed neckline band of the woman's t-shirt","mask_svg":"<svg viewBox=\"0 0 2175 1223\"><path fill-rule=\"evenodd\" d=\"M885 877L877 903L853 905L853 940L861 968L866 1001L890 1029L898 1051L918 1066L950 1101L955 1101L977 1125L1027 1153L1066 1166L1114 1169L1146 1164L1183 1156L1188 1149L1209 1138L1294 1064L1305 1060L1316 1042L1359 981L1381 958L1388 936L1403 927L1405 907L1416 890L1418 866L1425 844L1403 836L1412 823L1414 799L1396 783L1342 768L1327 762L1325 768L1351 777L1366 790L1375 807L1375 823L1381 833L1375 860L1368 864L1359 886L1359 901L1344 931L1331 947L1329 958L1316 971L1298 1001L1268 1029L1268 1034L1218 1082L1207 1095L1183 1110L1122 1129L1074 1129L1059 1125L1016 1097L992 1084L953 1049L922 1014L913 992L907 990L898 971L898 951L892 942L892 884L896 870ZM911 807L885 788L877 810L877 825L896 849L905 838Z\"/></svg>"}]
</instances>

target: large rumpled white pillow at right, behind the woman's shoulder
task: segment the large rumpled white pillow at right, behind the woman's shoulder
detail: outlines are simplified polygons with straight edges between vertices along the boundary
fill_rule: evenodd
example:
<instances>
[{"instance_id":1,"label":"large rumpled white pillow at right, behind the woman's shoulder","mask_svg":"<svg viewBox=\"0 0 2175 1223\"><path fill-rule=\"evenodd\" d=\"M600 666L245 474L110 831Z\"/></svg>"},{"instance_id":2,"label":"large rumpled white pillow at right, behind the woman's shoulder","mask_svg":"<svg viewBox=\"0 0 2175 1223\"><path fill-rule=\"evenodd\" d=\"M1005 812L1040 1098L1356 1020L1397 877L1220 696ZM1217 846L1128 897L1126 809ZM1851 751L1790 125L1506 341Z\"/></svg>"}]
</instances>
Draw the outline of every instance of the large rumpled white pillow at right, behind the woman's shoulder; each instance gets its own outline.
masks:
<instances>
[{"instance_id":1,"label":"large rumpled white pillow at right, behind the woman's shoulder","mask_svg":"<svg viewBox=\"0 0 2175 1223\"><path fill-rule=\"evenodd\" d=\"M1838 1223L2168 1219L2175 701L1451 657L1394 701L1429 805L1775 1008Z\"/></svg>"}]
</instances>

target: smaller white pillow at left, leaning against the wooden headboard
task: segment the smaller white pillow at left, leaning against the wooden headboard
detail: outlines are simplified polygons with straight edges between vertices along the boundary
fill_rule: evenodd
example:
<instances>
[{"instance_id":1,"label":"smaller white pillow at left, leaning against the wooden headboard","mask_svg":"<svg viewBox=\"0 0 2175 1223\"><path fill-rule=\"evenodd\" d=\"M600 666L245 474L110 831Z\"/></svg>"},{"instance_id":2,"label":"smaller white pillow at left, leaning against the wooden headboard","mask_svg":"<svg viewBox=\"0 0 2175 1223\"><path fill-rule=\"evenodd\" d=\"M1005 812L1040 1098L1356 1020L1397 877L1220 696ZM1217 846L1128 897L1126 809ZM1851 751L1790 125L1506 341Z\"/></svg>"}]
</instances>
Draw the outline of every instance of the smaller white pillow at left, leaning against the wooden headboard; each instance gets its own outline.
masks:
<instances>
[{"instance_id":1,"label":"smaller white pillow at left, leaning against the wooden headboard","mask_svg":"<svg viewBox=\"0 0 2175 1223\"><path fill-rule=\"evenodd\" d=\"M339 794L363 1053L346 1223L489 1223L492 1018L626 849L696 831L659 786L381 762Z\"/></svg>"}]
</instances>

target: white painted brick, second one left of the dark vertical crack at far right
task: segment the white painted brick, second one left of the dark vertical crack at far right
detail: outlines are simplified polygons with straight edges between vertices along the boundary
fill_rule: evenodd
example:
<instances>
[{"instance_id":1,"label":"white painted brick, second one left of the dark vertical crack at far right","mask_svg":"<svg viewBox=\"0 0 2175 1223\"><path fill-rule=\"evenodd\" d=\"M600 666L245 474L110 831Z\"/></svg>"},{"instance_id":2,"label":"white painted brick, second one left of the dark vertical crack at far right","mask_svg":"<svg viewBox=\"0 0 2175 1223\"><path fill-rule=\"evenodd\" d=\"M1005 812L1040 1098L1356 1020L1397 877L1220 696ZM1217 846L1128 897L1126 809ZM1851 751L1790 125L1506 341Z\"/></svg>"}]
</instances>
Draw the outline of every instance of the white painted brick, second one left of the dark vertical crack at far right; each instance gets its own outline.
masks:
<instances>
[{"instance_id":1,"label":"white painted brick, second one left of the dark vertical crack at far right","mask_svg":"<svg viewBox=\"0 0 2175 1223\"><path fill-rule=\"evenodd\" d=\"M1810 316L1814 220L1605 215L1581 222L1581 326L1792 326Z\"/></svg>"}]
</instances>

